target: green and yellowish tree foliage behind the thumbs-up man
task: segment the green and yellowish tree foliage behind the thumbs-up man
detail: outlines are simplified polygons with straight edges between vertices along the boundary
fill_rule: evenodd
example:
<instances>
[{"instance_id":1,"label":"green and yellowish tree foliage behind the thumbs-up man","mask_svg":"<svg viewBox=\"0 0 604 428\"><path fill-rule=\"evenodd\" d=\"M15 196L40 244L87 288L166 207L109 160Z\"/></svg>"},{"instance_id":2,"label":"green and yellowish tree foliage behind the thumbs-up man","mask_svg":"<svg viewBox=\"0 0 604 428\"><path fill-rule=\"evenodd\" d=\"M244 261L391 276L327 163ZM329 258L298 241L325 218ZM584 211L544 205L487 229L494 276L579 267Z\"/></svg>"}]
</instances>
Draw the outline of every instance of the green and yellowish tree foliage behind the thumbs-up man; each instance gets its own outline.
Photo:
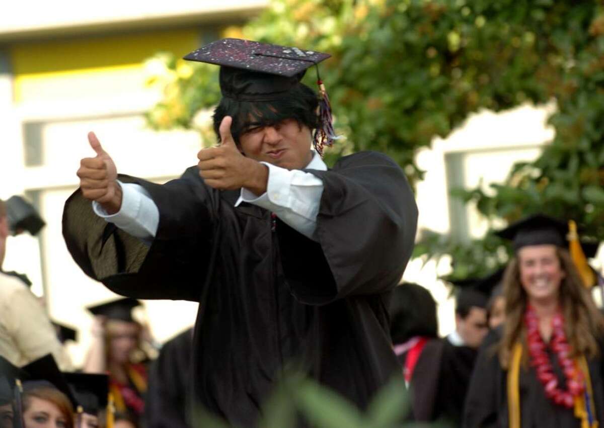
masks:
<instances>
[{"instance_id":1,"label":"green and yellowish tree foliage behind the thumbs-up man","mask_svg":"<svg viewBox=\"0 0 604 428\"><path fill-rule=\"evenodd\" d=\"M488 219L537 211L573 217L593 238L604 238L603 34L596 0L273 0L240 33L225 31L332 53L320 72L345 141L328 156L380 150L412 182L422 177L417 149L469 113L554 101L556 136L539 159L515 165L494 193L458 196ZM219 99L217 67L162 63L166 96L149 112L150 124L199 127L211 141L208 115L199 121L199 111ZM315 71L305 79L314 85ZM469 244L425 234L416 255L453 255L455 276L506 258L492 235Z\"/></svg>"}]
</instances>

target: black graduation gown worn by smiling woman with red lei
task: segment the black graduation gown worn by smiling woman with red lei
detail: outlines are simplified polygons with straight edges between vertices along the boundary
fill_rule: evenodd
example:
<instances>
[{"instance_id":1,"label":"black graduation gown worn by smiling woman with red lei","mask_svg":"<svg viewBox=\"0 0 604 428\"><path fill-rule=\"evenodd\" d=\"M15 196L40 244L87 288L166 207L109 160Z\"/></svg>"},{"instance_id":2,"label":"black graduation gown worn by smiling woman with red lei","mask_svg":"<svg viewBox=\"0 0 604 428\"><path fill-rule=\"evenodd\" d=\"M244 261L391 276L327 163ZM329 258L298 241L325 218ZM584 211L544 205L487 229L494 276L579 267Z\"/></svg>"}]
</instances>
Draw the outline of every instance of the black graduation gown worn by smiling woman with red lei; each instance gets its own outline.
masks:
<instances>
[{"instance_id":1,"label":"black graduation gown worn by smiling woman with red lei","mask_svg":"<svg viewBox=\"0 0 604 428\"><path fill-rule=\"evenodd\" d=\"M507 371L501 368L498 354L493 347L501 337L500 329L491 331L478 354L474 373L466 398L464 427L509 427L507 407ZM554 353L549 353L554 373L560 385L565 378ZM600 350L602 355L602 350ZM602 359L588 360L590 377L599 426L604 426L604 385L602 383ZM544 388L535 369L521 365L519 374L520 418L522 428L580 428L580 420L574 410L557 406L545 396Z\"/></svg>"}]
</instances>

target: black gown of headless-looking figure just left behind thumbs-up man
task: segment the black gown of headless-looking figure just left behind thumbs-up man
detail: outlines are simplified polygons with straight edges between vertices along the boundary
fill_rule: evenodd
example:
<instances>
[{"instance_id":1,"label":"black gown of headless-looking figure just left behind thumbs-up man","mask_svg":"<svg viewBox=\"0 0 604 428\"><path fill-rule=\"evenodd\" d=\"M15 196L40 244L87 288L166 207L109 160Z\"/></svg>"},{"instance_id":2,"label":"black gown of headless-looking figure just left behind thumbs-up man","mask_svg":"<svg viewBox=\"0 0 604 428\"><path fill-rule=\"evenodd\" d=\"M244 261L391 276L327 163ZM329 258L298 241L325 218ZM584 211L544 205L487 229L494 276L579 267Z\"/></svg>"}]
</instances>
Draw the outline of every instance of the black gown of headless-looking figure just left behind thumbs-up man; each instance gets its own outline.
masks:
<instances>
[{"instance_id":1,"label":"black gown of headless-looking figure just left behind thumbs-up man","mask_svg":"<svg viewBox=\"0 0 604 428\"><path fill-rule=\"evenodd\" d=\"M189 428L187 397L191 379L193 329L188 328L164 343L149 366L145 400L147 428Z\"/></svg>"}]
</instances>

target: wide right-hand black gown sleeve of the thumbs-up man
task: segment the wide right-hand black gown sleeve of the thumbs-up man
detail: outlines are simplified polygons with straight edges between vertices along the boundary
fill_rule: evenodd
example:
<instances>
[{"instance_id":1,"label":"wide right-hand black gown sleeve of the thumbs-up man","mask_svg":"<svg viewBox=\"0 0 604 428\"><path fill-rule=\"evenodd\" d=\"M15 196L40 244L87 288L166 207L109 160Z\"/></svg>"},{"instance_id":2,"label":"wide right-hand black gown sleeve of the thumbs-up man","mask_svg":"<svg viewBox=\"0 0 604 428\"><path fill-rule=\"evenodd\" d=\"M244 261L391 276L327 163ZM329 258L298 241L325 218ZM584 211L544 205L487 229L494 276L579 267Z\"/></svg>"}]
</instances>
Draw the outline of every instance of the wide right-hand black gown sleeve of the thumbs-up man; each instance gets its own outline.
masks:
<instances>
[{"instance_id":1,"label":"wide right-hand black gown sleeve of the thumbs-up man","mask_svg":"<svg viewBox=\"0 0 604 428\"><path fill-rule=\"evenodd\" d=\"M307 170L324 190L310 240L282 222L276 228L283 272L305 304L388 292L413 251L417 205L405 174L388 156L361 152L332 170Z\"/></svg>"}]
</instances>

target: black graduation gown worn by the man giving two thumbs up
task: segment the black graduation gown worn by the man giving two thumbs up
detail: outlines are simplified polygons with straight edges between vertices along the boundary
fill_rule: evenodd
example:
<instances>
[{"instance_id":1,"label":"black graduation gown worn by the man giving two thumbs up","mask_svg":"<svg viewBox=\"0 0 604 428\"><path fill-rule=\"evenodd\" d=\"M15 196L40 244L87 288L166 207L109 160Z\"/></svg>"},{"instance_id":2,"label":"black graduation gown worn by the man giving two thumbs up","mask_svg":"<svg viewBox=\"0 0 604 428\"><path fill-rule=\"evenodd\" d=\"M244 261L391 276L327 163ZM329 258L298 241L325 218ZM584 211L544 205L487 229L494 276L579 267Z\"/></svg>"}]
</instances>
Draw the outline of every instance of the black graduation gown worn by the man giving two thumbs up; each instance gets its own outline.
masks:
<instances>
[{"instance_id":1,"label":"black graduation gown worn by the man giving two thumbs up","mask_svg":"<svg viewBox=\"0 0 604 428\"><path fill-rule=\"evenodd\" d=\"M388 304L413 250L417 206L381 153L339 159L323 180L317 241L195 167L164 185L131 179L159 209L150 247L94 215L76 191L63 235L76 263L124 296L201 302L194 400L249 426L284 363L364 407L397 366ZM126 180L126 177L122 177Z\"/></svg>"}]
</instances>

